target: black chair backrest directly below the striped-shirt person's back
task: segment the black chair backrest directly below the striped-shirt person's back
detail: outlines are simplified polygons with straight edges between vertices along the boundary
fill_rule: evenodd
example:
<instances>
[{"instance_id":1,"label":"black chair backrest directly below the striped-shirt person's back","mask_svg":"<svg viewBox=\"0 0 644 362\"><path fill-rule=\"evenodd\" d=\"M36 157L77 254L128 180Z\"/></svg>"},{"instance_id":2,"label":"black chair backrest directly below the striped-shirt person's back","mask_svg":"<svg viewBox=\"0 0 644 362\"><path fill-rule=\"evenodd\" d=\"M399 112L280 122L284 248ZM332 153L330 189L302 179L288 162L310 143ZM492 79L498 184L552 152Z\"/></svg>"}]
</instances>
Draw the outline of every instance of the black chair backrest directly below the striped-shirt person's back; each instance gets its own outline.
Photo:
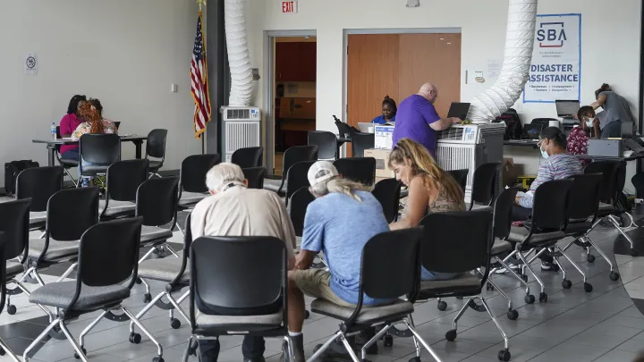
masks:
<instances>
[{"instance_id":1,"label":"black chair backrest directly below the striped-shirt person's back","mask_svg":"<svg viewBox=\"0 0 644 362\"><path fill-rule=\"evenodd\" d=\"M585 173L572 177L572 189L568 195L568 220L586 221L597 215L599 190L604 179L602 173Z\"/></svg>"}]
</instances>

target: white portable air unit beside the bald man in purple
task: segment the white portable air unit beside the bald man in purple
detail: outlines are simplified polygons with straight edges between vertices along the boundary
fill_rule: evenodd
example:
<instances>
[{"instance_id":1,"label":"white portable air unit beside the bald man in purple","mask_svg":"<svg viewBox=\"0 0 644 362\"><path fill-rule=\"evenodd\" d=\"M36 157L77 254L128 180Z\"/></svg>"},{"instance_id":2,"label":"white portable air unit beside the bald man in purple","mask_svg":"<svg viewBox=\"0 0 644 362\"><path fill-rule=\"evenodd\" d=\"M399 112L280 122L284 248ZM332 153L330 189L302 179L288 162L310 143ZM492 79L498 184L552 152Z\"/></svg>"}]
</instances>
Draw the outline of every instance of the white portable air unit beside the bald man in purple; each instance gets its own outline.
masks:
<instances>
[{"instance_id":1,"label":"white portable air unit beside the bald man in purple","mask_svg":"<svg viewBox=\"0 0 644 362\"><path fill-rule=\"evenodd\" d=\"M436 162L444 170L468 169L465 199L471 198L474 170L480 164L503 162L503 139L505 126L502 123L454 125L437 132ZM503 187L501 167L496 176L496 195Z\"/></svg>"}]
</instances>

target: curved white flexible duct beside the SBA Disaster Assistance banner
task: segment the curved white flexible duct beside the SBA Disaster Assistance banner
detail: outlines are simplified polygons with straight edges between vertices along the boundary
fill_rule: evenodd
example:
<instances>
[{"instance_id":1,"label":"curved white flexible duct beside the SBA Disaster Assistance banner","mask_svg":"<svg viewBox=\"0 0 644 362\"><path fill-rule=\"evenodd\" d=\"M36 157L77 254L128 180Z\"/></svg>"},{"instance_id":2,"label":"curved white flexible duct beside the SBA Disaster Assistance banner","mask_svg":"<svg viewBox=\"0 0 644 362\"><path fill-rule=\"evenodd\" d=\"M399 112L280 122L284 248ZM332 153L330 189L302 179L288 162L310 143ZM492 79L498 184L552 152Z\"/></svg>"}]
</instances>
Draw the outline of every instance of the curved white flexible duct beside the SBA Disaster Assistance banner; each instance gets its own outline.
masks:
<instances>
[{"instance_id":1,"label":"curved white flexible duct beside the SBA Disaster Assistance banner","mask_svg":"<svg viewBox=\"0 0 644 362\"><path fill-rule=\"evenodd\" d=\"M468 119L489 123L519 99L530 76L538 0L510 0L504 63L498 80L471 102Z\"/></svg>"}]
</instances>

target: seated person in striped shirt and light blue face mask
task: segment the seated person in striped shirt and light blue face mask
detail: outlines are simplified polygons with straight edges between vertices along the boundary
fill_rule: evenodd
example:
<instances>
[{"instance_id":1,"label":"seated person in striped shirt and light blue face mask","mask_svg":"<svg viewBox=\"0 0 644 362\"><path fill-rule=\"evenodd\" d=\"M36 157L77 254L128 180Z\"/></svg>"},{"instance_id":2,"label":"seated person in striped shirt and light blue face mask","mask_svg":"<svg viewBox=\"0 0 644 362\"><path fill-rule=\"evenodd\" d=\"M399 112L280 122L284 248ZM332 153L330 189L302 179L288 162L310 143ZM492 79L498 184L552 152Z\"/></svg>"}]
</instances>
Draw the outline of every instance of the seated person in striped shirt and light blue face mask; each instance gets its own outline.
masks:
<instances>
[{"instance_id":1,"label":"seated person in striped shirt and light blue face mask","mask_svg":"<svg viewBox=\"0 0 644 362\"><path fill-rule=\"evenodd\" d=\"M517 196L516 205L513 207L513 221L526 221L532 215L532 205L535 190L547 181L563 180L571 176L582 174L583 167L576 156L566 154L566 139L561 130L556 127L547 127L541 131L538 142L541 156L546 160L539 166L537 179L532 181L530 190ZM541 270L553 270L553 258L543 256Z\"/></svg>"}]
</instances>

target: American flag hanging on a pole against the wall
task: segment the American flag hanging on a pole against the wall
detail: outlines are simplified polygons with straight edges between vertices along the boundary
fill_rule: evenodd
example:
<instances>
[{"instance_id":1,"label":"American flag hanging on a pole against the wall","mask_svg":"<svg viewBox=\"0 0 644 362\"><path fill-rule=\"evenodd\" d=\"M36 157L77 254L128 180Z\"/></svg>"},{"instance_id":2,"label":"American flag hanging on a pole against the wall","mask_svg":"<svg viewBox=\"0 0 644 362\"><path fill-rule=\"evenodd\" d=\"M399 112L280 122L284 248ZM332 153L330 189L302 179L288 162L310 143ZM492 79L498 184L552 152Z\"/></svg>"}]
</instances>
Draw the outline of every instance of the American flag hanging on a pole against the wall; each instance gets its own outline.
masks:
<instances>
[{"instance_id":1,"label":"American flag hanging on a pole against the wall","mask_svg":"<svg viewBox=\"0 0 644 362\"><path fill-rule=\"evenodd\" d=\"M206 62L206 46L203 42L201 12L197 22L197 36L192 50L191 63L191 93L195 101L194 130L195 138L200 139L210 121L210 96L208 95L208 64Z\"/></svg>"}]
</instances>

